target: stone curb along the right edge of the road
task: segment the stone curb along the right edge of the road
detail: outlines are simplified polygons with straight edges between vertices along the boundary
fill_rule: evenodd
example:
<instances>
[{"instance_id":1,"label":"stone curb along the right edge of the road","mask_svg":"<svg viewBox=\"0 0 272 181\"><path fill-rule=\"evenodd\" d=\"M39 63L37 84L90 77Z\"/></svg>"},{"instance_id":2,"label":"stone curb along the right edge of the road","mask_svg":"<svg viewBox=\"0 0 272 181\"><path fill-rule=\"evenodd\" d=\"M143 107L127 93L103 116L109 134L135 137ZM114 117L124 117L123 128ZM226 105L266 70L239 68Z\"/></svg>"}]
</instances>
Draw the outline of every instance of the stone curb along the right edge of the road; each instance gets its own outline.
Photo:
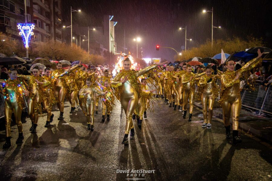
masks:
<instances>
[{"instance_id":1,"label":"stone curb along the right edge of the road","mask_svg":"<svg viewBox=\"0 0 272 181\"><path fill-rule=\"evenodd\" d=\"M194 105L200 107L201 109L203 108L202 105L197 103L197 102L194 102ZM218 113L218 114L213 113L213 115L216 116L216 117L219 117L221 119L223 118L223 114L220 114L220 113ZM232 124L232 120L230 120L230 124ZM272 142L272 137L271 136L268 136L267 134L263 134L261 131L252 128L251 126L247 125L246 123L239 122L239 128L241 128L242 130L247 131L247 132L249 132L249 133L251 133L251 134L253 134L253 135L255 135L255 136L259 137L259 138L263 138L263 139L265 139L267 141Z\"/></svg>"}]
</instances>

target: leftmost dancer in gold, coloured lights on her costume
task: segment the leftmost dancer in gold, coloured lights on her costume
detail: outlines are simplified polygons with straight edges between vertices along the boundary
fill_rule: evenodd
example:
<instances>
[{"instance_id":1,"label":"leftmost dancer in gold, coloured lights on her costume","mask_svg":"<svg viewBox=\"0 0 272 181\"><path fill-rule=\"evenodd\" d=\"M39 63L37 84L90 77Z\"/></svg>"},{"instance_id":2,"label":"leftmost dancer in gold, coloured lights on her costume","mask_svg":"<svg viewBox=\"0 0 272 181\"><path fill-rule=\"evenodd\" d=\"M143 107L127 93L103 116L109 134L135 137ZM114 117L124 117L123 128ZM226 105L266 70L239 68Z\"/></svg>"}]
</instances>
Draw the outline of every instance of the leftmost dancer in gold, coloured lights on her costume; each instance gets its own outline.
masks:
<instances>
[{"instance_id":1,"label":"leftmost dancer in gold, coloured lights on her costume","mask_svg":"<svg viewBox=\"0 0 272 181\"><path fill-rule=\"evenodd\" d=\"M15 115L15 122L18 127L19 136L16 144L22 143L23 125L21 122L21 114L24 105L23 96L28 96L29 92L26 89L23 82L18 80L17 70L11 68L8 70L8 80L0 80L1 93L5 98L5 119L6 119L6 142L3 148L9 148L11 146L11 116L12 112Z\"/></svg>"}]
</instances>

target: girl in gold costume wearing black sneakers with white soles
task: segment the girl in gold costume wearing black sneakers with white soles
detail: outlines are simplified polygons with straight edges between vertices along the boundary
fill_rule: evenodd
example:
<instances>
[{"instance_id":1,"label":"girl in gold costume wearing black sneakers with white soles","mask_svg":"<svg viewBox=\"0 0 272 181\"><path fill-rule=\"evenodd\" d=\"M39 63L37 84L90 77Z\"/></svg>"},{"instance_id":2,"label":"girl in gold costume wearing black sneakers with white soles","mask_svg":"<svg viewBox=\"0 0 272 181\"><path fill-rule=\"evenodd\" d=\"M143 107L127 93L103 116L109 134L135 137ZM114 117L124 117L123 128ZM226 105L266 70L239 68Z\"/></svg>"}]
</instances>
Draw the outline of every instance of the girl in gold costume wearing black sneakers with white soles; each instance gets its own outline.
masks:
<instances>
[{"instance_id":1,"label":"girl in gold costume wearing black sneakers with white soles","mask_svg":"<svg viewBox=\"0 0 272 181\"><path fill-rule=\"evenodd\" d=\"M219 75L212 75L212 67L207 66L205 68L205 75L200 77L198 86L201 87L201 101L203 106L203 119L202 128L210 129L212 127L212 110L215 97L218 96L219 89L216 85L216 80L220 78ZM209 102L209 115L207 117L207 103Z\"/></svg>"}]
</instances>

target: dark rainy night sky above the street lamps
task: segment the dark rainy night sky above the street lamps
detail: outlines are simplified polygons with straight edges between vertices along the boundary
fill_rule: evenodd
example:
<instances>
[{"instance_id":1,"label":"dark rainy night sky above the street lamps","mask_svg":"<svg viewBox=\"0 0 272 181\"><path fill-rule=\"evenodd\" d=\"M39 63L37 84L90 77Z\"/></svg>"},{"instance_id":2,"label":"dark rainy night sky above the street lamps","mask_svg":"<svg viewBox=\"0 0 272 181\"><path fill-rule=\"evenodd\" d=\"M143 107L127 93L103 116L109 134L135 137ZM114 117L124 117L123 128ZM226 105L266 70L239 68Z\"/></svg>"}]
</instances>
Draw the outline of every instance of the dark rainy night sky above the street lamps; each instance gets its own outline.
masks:
<instances>
[{"instance_id":1,"label":"dark rainy night sky above the street lamps","mask_svg":"<svg viewBox=\"0 0 272 181\"><path fill-rule=\"evenodd\" d=\"M114 15L117 51L124 52L124 30L126 48L136 57L135 37L141 37L138 48L143 48L144 58L162 58L172 61L174 52L160 48L156 44L170 46L181 51L185 45L187 26L187 49L211 39L212 13L202 10L213 7L214 39L248 35L264 39L265 45L272 48L272 1L271 0L63 0L63 24L70 24L70 6L81 9L73 13L73 25L102 26L104 14ZM140 52L140 50L139 50ZM232 52L225 52L232 53Z\"/></svg>"}]
</instances>

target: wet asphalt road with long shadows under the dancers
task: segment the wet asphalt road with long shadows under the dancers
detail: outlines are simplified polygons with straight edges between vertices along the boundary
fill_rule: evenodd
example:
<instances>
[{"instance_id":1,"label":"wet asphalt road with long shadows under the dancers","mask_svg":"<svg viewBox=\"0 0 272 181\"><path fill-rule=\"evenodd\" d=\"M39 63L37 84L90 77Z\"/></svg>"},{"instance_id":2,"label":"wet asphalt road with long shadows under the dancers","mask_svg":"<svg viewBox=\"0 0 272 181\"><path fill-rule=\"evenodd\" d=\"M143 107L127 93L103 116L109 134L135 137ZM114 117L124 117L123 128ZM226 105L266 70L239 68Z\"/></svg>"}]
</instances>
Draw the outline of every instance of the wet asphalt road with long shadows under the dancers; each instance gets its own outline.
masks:
<instances>
[{"instance_id":1,"label":"wet asphalt road with long shadows under the dancers","mask_svg":"<svg viewBox=\"0 0 272 181\"><path fill-rule=\"evenodd\" d=\"M147 112L142 129L135 127L135 140L124 147L125 113L120 104L116 103L111 120L105 122L100 105L93 132L87 130L80 108L69 114L69 102L65 103L64 120L57 121L59 112L53 112L50 128L44 128L45 114L40 117L37 134L28 131L29 118L22 120L22 145L15 144L18 129L13 125L12 146L3 150L5 131L1 131L1 180L272 179L271 144L240 132L243 142L234 146L225 139L222 120L214 117L212 129L201 128L198 108L188 122L160 99L154 112ZM154 173L131 175L132 169ZM128 170L129 175L118 170Z\"/></svg>"}]
</instances>

